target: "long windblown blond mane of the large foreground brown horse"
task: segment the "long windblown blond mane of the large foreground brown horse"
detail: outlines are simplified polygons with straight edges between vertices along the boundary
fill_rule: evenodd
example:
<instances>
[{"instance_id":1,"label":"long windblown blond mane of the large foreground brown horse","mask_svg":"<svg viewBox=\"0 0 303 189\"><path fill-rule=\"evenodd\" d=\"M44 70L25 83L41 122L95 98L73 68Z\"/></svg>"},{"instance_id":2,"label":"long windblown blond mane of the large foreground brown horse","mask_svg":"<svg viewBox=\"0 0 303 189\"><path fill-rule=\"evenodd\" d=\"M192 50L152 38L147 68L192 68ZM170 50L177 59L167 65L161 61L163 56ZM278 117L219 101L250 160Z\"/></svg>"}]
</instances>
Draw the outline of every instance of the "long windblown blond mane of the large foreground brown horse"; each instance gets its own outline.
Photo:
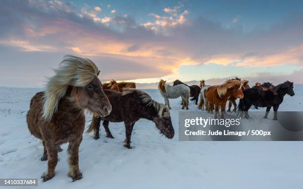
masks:
<instances>
[{"instance_id":1,"label":"long windblown blond mane of the large foreground brown horse","mask_svg":"<svg viewBox=\"0 0 303 189\"><path fill-rule=\"evenodd\" d=\"M87 86L99 75L96 64L88 59L72 55L64 56L55 75L50 77L44 93L42 119L50 121L57 111L60 99L65 95L68 86Z\"/></svg>"}]
</instances>

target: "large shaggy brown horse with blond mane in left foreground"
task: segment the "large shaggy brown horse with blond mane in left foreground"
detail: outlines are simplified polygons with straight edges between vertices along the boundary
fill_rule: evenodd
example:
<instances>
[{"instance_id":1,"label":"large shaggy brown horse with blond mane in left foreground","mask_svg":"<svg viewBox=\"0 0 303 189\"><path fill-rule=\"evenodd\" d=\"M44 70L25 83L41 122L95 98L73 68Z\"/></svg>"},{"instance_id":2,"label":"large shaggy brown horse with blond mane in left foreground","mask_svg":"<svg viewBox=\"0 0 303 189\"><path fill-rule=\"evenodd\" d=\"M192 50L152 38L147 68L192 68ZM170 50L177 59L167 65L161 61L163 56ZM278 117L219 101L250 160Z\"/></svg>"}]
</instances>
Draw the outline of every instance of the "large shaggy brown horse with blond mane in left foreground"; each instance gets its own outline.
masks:
<instances>
[{"instance_id":1,"label":"large shaggy brown horse with blond mane in left foreground","mask_svg":"<svg viewBox=\"0 0 303 189\"><path fill-rule=\"evenodd\" d=\"M101 116L111 111L102 91L96 64L87 58L64 56L55 75L50 77L46 90L34 95L26 122L32 135L42 140L48 171L43 182L54 177L60 144L69 142L69 177L82 179L79 170L79 145L85 126L84 109Z\"/></svg>"}]
</instances>

